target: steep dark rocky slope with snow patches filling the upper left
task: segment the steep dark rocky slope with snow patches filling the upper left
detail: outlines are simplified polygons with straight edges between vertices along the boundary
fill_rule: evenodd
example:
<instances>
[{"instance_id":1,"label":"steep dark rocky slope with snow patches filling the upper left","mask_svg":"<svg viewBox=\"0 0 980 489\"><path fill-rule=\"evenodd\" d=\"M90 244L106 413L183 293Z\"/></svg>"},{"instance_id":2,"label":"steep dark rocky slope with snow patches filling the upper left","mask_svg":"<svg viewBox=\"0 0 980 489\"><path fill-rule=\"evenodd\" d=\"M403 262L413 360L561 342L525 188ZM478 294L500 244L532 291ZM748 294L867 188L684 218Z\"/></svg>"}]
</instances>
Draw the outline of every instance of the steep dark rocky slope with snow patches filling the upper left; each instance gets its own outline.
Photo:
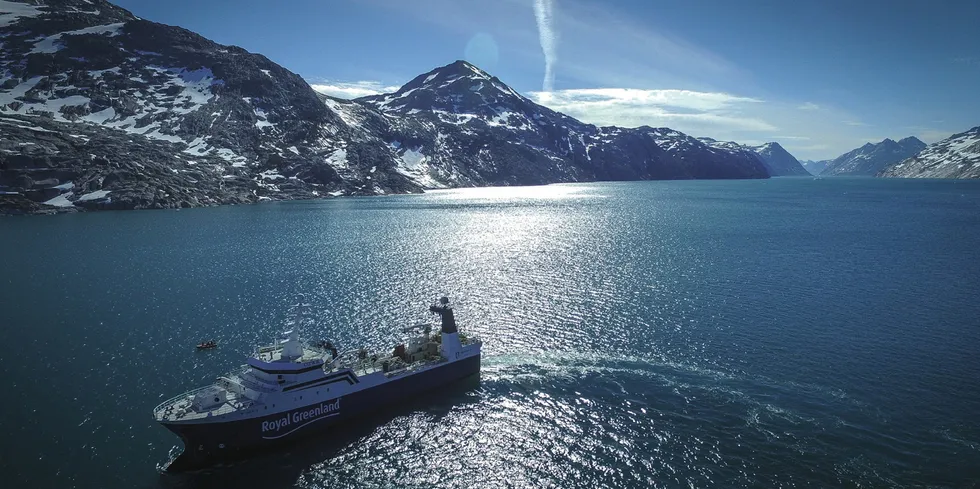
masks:
<instances>
[{"instance_id":1,"label":"steep dark rocky slope with snow patches filling the upper left","mask_svg":"<svg viewBox=\"0 0 980 489\"><path fill-rule=\"evenodd\" d=\"M421 189L385 171L376 154L387 148L352 141L302 78L261 55L101 0L0 12L12 6L25 15L0 28L7 192L57 179L76 187L56 204L126 209ZM40 130L58 136L39 144L30 135ZM340 155L346 177L324 164Z\"/></svg>"}]
</instances>

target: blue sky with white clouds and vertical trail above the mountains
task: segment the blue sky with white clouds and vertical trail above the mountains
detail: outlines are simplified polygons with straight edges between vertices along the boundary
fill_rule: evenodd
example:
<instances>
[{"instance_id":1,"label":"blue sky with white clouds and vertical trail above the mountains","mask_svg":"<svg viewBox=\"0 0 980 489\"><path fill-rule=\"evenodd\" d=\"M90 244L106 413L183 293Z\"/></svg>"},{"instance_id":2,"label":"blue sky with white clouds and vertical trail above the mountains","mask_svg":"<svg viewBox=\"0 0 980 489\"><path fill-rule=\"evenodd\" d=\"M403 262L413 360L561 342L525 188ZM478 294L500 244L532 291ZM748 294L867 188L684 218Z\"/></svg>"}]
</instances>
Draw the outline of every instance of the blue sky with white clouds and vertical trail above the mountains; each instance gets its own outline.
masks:
<instances>
[{"instance_id":1,"label":"blue sky with white clouds and vertical trail above the mountains","mask_svg":"<svg viewBox=\"0 0 980 489\"><path fill-rule=\"evenodd\" d=\"M465 59L598 125L829 159L980 125L976 0L116 0L314 88L394 91Z\"/></svg>"}]
</instances>

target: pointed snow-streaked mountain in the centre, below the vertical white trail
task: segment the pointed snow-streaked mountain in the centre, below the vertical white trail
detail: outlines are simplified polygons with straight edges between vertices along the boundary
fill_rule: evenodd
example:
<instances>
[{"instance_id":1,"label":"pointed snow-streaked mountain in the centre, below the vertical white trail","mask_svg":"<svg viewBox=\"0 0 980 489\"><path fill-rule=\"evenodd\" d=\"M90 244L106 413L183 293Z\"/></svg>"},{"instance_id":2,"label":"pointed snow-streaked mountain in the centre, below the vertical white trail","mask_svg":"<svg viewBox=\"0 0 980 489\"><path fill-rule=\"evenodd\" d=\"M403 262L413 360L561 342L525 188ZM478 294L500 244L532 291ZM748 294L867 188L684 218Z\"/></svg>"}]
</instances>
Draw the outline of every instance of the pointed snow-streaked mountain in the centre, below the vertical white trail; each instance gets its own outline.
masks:
<instances>
[{"instance_id":1,"label":"pointed snow-streaked mountain in the centre, below the vertical white trail","mask_svg":"<svg viewBox=\"0 0 980 489\"><path fill-rule=\"evenodd\" d=\"M331 106L387 142L403 173L426 186L767 176L743 154L671 129L582 123L465 61L395 93ZM383 117L371 119L369 111Z\"/></svg>"}]
</instances>

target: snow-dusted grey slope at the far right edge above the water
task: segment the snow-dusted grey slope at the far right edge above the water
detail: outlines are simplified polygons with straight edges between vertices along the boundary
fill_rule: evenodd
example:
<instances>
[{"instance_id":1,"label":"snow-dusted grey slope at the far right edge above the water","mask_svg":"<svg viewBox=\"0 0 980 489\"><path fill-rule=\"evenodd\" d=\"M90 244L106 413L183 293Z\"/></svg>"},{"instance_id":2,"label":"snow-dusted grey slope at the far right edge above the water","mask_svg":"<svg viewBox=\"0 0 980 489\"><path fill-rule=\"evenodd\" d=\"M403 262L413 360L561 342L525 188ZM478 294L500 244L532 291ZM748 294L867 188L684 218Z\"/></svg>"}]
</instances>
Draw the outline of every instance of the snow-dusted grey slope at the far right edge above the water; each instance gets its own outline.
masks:
<instances>
[{"instance_id":1,"label":"snow-dusted grey slope at the far right edge above the water","mask_svg":"<svg viewBox=\"0 0 980 489\"><path fill-rule=\"evenodd\" d=\"M980 126L930 144L882 171L883 177L980 178Z\"/></svg>"}]
</instances>

